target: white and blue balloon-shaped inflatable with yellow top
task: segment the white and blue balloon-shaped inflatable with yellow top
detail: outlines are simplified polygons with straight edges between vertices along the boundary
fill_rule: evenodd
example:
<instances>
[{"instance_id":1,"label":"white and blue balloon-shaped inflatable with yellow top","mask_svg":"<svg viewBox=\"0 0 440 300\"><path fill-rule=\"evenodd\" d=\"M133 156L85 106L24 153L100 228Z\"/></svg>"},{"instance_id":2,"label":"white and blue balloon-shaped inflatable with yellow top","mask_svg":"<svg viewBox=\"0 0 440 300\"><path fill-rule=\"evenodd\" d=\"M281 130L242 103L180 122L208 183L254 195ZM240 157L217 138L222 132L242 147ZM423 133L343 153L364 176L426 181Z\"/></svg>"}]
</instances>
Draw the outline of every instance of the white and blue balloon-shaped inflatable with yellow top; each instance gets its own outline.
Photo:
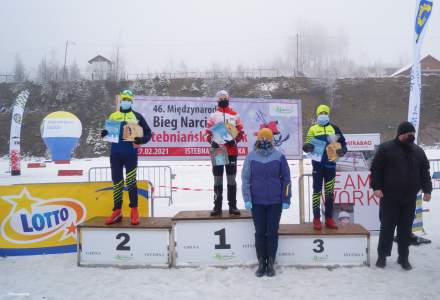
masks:
<instances>
[{"instance_id":1,"label":"white and blue balloon-shaped inflatable with yellow top","mask_svg":"<svg viewBox=\"0 0 440 300\"><path fill-rule=\"evenodd\" d=\"M57 164L70 163L70 157L81 137L81 121L67 111L47 115L41 123L41 137Z\"/></svg>"}]
</instances>

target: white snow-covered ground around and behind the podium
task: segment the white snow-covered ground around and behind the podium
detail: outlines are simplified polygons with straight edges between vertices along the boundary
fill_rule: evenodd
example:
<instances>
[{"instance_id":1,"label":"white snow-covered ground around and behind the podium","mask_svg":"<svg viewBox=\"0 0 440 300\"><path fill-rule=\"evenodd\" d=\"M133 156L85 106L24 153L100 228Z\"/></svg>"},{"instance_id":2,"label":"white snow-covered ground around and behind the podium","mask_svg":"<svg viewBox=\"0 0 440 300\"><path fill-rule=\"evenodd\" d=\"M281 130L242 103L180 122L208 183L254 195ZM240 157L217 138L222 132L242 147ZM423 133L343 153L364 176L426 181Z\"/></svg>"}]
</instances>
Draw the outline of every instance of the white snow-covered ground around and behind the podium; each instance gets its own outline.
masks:
<instances>
[{"instance_id":1,"label":"white snow-covered ground around and behind the podium","mask_svg":"<svg viewBox=\"0 0 440 300\"><path fill-rule=\"evenodd\" d=\"M429 158L440 158L440 150L427 150ZM33 160L35 161L35 159ZM291 163L294 182L298 168ZM23 166L26 163L22 164ZM73 160L63 169L108 166L108 158ZM141 162L141 165L170 165L178 187L174 204L158 201L157 216L172 216L181 210L211 209L212 177L209 162ZM204 166L194 166L204 165ZM22 170L11 177L8 161L0 159L0 184L56 182L59 166ZM306 162L305 171L310 171ZM239 168L239 174L241 168ZM239 176L237 177L239 179ZM63 181L87 181L84 176ZM239 180L240 181L240 180ZM239 182L240 186L240 182ZM239 193L240 194L240 193ZM294 184L297 195L297 184ZM280 267L274 278L256 278L253 268L117 269L79 268L76 254L0 258L0 299L439 299L440 297L440 190L425 204L424 224L431 244L411 247L414 269L403 271L396 263L396 249L384 270L374 266L353 268ZM283 212L282 223L298 222L297 196ZM238 205L243 208L241 195ZM372 237L371 261L376 261L377 236Z\"/></svg>"}]
</instances>

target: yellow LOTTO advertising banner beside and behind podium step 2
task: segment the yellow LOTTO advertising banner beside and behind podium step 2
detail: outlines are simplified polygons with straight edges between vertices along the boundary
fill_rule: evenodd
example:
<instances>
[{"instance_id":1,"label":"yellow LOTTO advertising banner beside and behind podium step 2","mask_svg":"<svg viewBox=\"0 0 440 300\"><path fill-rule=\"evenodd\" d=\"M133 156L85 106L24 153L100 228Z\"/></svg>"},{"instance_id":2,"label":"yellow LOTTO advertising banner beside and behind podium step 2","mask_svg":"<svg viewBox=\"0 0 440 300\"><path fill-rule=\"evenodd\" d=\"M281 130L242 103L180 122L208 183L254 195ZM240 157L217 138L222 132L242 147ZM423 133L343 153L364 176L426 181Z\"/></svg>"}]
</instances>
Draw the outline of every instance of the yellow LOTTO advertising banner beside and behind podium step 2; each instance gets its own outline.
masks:
<instances>
[{"instance_id":1,"label":"yellow LOTTO advertising banner beside and behind podium step 2","mask_svg":"<svg viewBox=\"0 0 440 300\"><path fill-rule=\"evenodd\" d=\"M143 217L148 193L148 183L138 181ZM123 199L123 215L129 216L127 192ZM78 224L112 208L111 182L0 186L0 256L76 252Z\"/></svg>"}]
</instances>

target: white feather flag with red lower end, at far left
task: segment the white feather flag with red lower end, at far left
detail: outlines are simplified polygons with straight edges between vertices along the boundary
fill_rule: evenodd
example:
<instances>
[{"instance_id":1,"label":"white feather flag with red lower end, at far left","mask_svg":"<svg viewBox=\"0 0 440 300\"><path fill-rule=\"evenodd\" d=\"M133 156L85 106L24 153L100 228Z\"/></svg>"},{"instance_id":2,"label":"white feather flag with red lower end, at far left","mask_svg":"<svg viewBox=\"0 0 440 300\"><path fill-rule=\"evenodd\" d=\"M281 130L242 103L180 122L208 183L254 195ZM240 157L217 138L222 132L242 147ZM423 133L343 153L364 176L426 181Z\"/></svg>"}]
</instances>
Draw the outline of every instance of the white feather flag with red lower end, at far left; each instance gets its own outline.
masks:
<instances>
[{"instance_id":1,"label":"white feather flag with red lower end, at far left","mask_svg":"<svg viewBox=\"0 0 440 300\"><path fill-rule=\"evenodd\" d=\"M23 111L26 106L29 91L21 92L14 103L11 120L11 136L9 139L9 158L11 163L11 175L20 175L20 134Z\"/></svg>"}]
</instances>

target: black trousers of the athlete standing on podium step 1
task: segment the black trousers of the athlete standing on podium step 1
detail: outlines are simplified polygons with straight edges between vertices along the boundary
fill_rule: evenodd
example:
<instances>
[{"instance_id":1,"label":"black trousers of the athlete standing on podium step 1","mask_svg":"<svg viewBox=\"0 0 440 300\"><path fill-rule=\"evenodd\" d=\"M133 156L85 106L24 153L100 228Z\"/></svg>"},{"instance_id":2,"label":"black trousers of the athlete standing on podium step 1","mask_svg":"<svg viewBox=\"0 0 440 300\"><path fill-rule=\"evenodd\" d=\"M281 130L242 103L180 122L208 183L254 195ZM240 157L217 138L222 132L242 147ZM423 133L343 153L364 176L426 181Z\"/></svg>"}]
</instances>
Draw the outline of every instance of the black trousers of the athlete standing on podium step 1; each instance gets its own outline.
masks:
<instances>
[{"instance_id":1,"label":"black trousers of the athlete standing on podium step 1","mask_svg":"<svg viewBox=\"0 0 440 300\"><path fill-rule=\"evenodd\" d=\"M229 156L229 163L225 166L212 166L214 175L214 206L222 207L223 201L223 172L226 170L226 181L228 187L228 204L231 208L237 207L237 156Z\"/></svg>"}]
</instances>

